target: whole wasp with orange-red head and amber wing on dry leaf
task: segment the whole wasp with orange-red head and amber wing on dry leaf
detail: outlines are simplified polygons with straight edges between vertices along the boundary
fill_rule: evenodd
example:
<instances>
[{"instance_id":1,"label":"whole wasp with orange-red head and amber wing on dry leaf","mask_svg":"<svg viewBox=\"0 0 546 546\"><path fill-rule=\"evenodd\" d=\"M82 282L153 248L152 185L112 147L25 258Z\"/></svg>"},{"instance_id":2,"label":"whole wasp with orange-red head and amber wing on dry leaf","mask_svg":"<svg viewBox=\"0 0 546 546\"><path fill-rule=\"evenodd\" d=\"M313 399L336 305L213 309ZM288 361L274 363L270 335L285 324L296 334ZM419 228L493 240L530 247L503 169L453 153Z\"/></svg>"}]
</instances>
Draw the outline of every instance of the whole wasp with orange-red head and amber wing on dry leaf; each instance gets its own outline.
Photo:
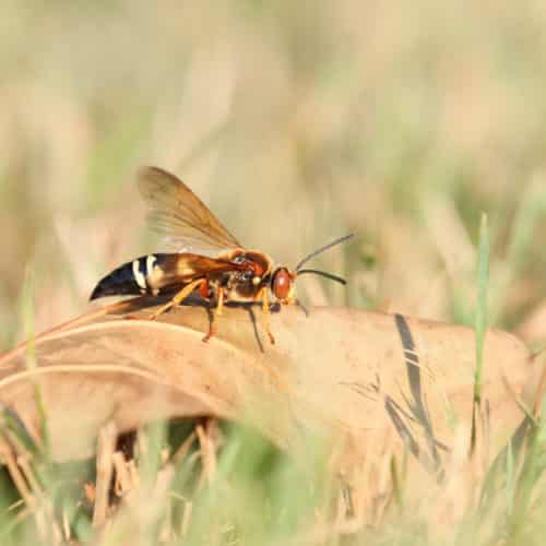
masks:
<instances>
[{"instance_id":1,"label":"whole wasp with orange-red head and amber wing on dry leaf","mask_svg":"<svg viewBox=\"0 0 546 546\"><path fill-rule=\"evenodd\" d=\"M297 304L294 282L298 275L314 273L345 284L337 275L302 265L353 234L319 248L290 271L285 265L274 266L264 252L242 247L176 176L157 167L144 167L139 171L138 186L150 209L151 225L176 252L147 254L120 265L96 285L92 300L117 295L173 295L149 317L155 320L189 296L199 295L216 306L203 341L214 335L214 319L225 302L261 302L268 335L274 343L269 328L270 302Z\"/></svg>"}]
</instances>

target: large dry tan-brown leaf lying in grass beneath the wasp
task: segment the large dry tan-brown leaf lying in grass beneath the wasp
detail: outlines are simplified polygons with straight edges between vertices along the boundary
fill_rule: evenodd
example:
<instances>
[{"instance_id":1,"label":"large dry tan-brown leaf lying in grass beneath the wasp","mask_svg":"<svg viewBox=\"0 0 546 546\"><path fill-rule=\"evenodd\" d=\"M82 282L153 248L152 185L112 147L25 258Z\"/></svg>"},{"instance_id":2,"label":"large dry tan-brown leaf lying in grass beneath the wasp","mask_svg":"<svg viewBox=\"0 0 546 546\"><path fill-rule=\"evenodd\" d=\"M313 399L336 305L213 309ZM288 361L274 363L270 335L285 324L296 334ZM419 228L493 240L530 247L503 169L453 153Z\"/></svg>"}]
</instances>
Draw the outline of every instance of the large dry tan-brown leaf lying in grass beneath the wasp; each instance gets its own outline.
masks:
<instances>
[{"instance_id":1,"label":"large dry tan-brown leaf lying in grass beneath the wasp","mask_svg":"<svg viewBox=\"0 0 546 546\"><path fill-rule=\"evenodd\" d=\"M131 305L122 311L150 313ZM393 454L406 450L435 473L449 458L455 423L470 430L471 329L284 308L272 316L277 343L270 345L262 320L260 310L228 308L217 336L203 343L209 313L199 306L156 322L90 313L35 341L36 368L27 368L25 346L0 358L0 402L38 430L38 384L58 460L88 455L108 420L123 431L157 417L211 415L250 422L294 453L306 449L302 431L312 431L335 447L339 472L349 478L356 464L358 479L378 490ZM519 396L534 407L544 383L542 368L534 368L517 337L488 332L483 397L494 446L524 422Z\"/></svg>"}]
</instances>

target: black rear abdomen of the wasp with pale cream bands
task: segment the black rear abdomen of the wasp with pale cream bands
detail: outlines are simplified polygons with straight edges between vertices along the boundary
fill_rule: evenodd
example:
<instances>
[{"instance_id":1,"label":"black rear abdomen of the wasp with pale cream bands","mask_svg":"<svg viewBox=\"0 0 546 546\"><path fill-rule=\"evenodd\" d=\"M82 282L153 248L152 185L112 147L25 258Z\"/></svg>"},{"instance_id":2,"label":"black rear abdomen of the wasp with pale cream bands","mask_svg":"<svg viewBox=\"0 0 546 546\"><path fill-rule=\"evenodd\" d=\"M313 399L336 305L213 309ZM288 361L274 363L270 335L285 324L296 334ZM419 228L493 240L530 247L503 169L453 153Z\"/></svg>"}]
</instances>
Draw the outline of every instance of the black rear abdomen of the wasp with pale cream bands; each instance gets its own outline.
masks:
<instances>
[{"instance_id":1,"label":"black rear abdomen of the wasp with pale cream bands","mask_svg":"<svg viewBox=\"0 0 546 546\"><path fill-rule=\"evenodd\" d=\"M161 265L169 256L147 254L123 263L99 281L90 300L104 296L157 295L159 290L150 285L149 278L154 268Z\"/></svg>"}]
</instances>

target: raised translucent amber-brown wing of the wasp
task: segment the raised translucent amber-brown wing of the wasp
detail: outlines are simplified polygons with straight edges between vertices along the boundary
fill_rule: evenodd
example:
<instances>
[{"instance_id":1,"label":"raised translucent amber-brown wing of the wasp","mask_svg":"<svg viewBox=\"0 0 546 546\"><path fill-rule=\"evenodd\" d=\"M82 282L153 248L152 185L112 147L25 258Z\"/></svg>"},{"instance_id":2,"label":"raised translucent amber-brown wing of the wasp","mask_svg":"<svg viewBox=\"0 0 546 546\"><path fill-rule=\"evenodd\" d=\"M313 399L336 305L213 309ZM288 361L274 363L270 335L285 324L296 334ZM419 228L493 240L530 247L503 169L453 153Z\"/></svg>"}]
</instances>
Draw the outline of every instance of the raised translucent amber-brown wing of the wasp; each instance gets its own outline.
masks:
<instances>
[{"instance_id":1,"label":"raised translucent amber-brown wing of the wasp","mask_svg":"<svg viewBox=\"0 0 546 546\"><path fill-rule=\"evenodd\" d=\"M139 171L138 185L150 209L149 222L169 248L209 256L240 248L237 239L176 176L157 167L144 167Z\"/></svg>"}]
</instances>

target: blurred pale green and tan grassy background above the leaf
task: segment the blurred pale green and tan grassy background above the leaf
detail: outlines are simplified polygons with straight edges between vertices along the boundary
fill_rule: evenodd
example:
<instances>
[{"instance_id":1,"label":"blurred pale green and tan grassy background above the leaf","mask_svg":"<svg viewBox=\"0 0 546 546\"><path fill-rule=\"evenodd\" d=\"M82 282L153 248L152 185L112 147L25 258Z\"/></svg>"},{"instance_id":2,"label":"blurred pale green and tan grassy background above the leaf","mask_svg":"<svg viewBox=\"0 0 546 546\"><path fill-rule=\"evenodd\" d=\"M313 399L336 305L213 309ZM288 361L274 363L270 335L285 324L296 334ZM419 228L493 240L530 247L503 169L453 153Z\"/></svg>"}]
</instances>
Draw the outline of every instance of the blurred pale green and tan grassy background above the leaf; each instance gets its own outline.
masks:
<instances>
[{"instance_id":1,"label":"blurred pale green and tan grassy background above the leaf","mask_svg":"<svg viewBox=\"0 0 546 546\"><path fill-rule=\"evenodd\" d=\"M0 346L22 336L25 269L43 330L159 250L143 164L280 262L354 230L322 259L348 289L302 278L308 301L463 323L487 211L492 321L539 339L545 24L538 0L4 0Z\"/></svg>"}]
</instances>

